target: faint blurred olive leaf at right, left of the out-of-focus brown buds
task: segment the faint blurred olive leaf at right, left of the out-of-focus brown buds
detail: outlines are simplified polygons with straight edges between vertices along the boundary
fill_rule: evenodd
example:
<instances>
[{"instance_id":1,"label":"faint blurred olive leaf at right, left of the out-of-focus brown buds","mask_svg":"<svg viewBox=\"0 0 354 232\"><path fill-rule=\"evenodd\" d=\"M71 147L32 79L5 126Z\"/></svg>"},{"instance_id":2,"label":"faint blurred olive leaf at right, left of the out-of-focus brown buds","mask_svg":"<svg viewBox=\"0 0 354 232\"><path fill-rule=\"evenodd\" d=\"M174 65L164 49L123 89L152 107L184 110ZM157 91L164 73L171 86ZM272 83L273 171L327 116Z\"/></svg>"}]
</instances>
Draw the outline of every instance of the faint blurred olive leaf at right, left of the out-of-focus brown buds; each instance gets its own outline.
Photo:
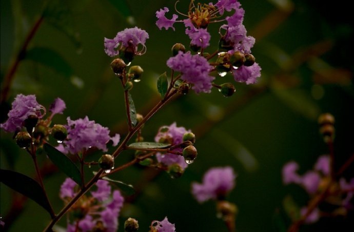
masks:
<instances>
[{"instance_id":1,"label":"faint blurred olive leaf at right, left of the out-of-focus brown buds","mask_svg":"<svg viewBox=\"0 0 354 232\"><path fill-rule=\"evenodd\" d=\"M316 121L320 114L320 107L309 94L302 89L271 89L284 104L303 117Z\"/></svg>"}]
</instances>

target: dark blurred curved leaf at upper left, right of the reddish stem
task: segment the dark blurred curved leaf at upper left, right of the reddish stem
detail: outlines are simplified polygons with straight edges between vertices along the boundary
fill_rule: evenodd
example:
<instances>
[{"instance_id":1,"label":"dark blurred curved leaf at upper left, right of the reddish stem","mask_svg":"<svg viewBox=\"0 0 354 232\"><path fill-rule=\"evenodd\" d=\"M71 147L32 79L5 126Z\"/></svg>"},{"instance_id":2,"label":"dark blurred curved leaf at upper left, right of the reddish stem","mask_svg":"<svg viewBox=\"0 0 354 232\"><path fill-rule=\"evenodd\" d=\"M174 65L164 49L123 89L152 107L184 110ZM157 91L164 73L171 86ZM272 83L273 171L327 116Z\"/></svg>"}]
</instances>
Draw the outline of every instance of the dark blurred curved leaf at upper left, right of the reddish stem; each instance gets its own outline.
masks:
<instances>
[{"instance_id":1,"label":"dark blurred curved leaf at upper left, right of the reddish stem","mask_svg":"<svg viewBox=\"0 0 354 232\"><path fill-rule=\"evenodd\" d=\"M69 63L59 53L49 48L34 47L27 51L26 59L46 65L66 78L73 74Z\"/></svg>"}]
</instances>

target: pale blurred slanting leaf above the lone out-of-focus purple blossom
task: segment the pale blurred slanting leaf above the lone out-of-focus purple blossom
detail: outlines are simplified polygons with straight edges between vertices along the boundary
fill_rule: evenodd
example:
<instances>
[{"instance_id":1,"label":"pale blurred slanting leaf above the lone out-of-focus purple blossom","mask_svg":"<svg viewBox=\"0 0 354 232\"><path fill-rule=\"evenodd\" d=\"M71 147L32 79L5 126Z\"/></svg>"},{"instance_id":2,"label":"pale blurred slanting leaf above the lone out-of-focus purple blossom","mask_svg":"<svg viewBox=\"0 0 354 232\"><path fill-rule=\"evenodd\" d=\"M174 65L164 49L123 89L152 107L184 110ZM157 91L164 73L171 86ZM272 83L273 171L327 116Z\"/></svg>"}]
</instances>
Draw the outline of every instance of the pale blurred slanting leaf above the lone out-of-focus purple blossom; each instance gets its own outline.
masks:
<instances>
[{"instance_id":1,"label":"pale blurred slanting leaf above the lone out-of-focus purple blossom","mask_svg":"<svg viewBox=\"0 0 354 232\"><path fill-rule=\"evenodd\" d=\"M211 134L213 135L214 140L229 152L231 152L247 171L257 170L258 161L254 158L253 154L239 141L218 129L214 129Z\"/></svg>"}]
</instances>

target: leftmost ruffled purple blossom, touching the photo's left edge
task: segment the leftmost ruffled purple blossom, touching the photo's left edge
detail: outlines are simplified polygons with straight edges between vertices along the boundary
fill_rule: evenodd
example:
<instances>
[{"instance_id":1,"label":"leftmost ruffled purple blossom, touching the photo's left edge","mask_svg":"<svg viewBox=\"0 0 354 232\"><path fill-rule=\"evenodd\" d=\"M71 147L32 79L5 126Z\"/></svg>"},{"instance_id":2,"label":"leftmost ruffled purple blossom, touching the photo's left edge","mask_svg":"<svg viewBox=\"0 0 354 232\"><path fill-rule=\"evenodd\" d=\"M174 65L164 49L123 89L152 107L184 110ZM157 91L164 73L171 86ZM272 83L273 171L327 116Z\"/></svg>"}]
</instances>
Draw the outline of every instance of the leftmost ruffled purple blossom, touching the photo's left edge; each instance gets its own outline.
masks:
<instances>
[{"instance_id":1,"label":"leftmost ruffled purple blossom, touching the photo's left edge","mask_svg":"<svg viewBox=\"0 0 354 232\"><path fill-rule=\"evenodd\" d=\"M30 116L36 115L38 118L42 118L42 112L45 113L45 108L38 104L35 95L23 95L18 94L15 100L12 102L12 108L9 111L8 120L1 124L0 127L7 132L14 132L17 129L21 129L23 122Z\"/></svg>"}]
</instances>

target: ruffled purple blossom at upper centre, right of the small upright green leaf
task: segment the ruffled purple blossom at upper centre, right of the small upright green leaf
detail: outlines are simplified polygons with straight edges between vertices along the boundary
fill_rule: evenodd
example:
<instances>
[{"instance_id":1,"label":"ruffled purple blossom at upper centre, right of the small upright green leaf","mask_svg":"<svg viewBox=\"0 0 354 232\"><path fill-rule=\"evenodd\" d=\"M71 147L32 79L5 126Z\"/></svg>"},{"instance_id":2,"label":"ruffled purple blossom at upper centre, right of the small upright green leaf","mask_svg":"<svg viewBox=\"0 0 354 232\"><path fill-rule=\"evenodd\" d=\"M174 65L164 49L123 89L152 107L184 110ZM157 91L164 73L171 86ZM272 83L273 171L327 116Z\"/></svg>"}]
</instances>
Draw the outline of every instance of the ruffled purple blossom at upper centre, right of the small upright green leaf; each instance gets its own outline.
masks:
<instances>
[{"instance_id":1,"label":"ruffled purple blossom at upper centre, right of the small upright green leaf","mask_svg":"<svg viewBox=\"0 0 354 232\"><path fill-rule=\"evenodd\" d=\"M180 51L176 56L167 60L167 66L171 69L181 72L181 79L187 83L193 84L192 89L196 93L210 92L211 83L215 79L209 75L213 67L208 61L198 54L192 55L190 52Z\"/></svg>"}]
</instances>

